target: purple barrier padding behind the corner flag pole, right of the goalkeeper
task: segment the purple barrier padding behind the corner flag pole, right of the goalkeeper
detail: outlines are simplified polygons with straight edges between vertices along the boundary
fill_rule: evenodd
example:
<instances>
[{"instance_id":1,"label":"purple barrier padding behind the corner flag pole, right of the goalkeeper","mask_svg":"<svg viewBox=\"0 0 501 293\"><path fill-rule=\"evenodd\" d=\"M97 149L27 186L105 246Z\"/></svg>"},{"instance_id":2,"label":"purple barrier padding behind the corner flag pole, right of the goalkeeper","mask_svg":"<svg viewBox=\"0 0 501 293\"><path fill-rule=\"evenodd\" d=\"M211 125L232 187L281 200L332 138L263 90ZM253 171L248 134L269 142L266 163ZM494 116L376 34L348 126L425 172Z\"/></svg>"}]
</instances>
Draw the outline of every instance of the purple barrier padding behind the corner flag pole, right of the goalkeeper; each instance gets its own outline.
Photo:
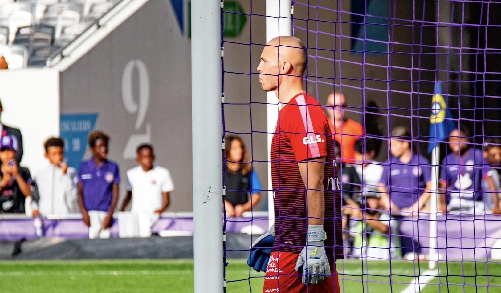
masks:
<instances>
[{"instance_id":1,"label":"purple barrier padding behind the corner flag pole, right of the goalkeeper","mask_svg":"<svg viewBox=\"0 0 501 293\"><path fill-rule=\"evenodd\" d=\"M426 253L430 247L429 216L407 217L400 223L403 235L413 236ZM501 216L437 216L437 248L442 258L486 259L501 238Z\"/></svg>"}]
</instances>

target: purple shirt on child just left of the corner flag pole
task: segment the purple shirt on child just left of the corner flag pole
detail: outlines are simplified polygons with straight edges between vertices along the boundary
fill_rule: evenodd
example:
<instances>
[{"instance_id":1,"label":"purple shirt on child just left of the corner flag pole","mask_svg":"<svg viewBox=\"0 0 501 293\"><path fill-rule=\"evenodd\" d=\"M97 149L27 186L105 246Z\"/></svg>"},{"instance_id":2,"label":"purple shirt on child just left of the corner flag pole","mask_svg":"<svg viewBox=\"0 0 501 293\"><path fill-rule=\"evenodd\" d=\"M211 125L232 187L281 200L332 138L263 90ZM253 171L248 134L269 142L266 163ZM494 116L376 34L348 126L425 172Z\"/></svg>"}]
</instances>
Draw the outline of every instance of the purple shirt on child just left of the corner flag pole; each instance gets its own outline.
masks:
<instances>
[{"instance_id":1,"label":"purple shirt on child just left of the corner flag pole","mask_svg":"<svg viewBox=\"0 0 501 293\"><path fill-rule=\"evenodd\" d=\"M431 181L431 166L428 159L418 154L412 154L407 164L391 157L379 181L388 186L389 197L398 208L409 207L417 201L426 182Z\"/></svg>"}]
</instances>

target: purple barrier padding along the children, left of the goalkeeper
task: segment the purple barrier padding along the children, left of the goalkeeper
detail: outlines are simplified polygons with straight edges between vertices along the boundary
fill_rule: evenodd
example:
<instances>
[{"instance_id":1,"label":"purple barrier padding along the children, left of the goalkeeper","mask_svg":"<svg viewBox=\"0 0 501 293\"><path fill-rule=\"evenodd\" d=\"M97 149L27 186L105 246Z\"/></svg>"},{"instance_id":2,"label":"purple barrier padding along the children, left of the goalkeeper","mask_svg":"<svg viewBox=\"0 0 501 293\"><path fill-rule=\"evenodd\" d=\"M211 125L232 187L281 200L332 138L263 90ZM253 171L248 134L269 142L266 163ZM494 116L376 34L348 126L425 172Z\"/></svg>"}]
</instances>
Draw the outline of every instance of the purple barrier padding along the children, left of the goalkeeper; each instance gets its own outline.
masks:
<instances>
[{"instance_id":1,"label":"purple barrier padding along the children, left of the goalkeeper","mask_svg":"<svg viewBox=\"0 0 501 293\"><path fill-rule=\"evenodd\" d=\"M43 219L44 235L46 237L86 238L89 228L81 219ZM239 233L247 225L258 225L263 230L268 230L268 219L232 218L227 221L226 231ZM118 224L116 219L111 226L111 237L118 237ZM193 232L193 218L160 218L152 227L152 232L162 230L179 230ZM0 240L20 240L37 238L34 221L32 218L2 219L0 220Z\"/></svg>"}]
</instances>

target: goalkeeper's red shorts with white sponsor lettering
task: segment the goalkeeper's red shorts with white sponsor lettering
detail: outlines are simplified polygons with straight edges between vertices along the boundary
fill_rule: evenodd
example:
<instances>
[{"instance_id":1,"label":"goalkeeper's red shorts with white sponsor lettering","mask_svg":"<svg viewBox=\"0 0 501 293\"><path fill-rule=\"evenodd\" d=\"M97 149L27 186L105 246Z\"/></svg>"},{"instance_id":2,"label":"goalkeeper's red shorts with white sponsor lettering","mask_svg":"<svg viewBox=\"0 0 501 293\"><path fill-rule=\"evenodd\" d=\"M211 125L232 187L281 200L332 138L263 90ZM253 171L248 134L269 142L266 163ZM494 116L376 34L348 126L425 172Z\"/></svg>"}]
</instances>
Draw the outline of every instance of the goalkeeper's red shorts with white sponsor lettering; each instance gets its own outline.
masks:
<instances>
[{"instance_id":1,"label":"goalkeeper's red shorts with white sponsor lettering","mask_svg":"<svg viewBox=\"0 0 501 293\"><path fill-rule=\"evenodd\" d=\"M296 271L299 253L272 252L266 268L263 293L340 293L336 263L331 263L331 277L316 285L305 285Z\"/></svg>"}]
</instances>

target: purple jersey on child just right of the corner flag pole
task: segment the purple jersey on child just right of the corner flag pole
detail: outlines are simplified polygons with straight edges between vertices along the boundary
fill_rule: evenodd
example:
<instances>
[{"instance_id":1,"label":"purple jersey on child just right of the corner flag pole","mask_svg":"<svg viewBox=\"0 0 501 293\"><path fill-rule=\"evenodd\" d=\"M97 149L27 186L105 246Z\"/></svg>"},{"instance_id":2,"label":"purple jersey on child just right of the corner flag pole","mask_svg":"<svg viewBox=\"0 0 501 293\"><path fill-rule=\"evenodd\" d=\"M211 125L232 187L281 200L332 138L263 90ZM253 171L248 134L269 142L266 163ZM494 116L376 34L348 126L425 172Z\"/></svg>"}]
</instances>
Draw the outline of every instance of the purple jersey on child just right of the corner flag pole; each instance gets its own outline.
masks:
<instances>
[{"instance_id":1,"label":"purple jersey on child just right of the corner flag pole","mask_svg":"<svg viewBox=\"0 0 501 293\"><path fill-rule=\"evenodd\" d=\"M440 183L447 183L447 202L452 197L482 200L482 178L489 170L479 149L470 148L461 157L449 153L440 166Z\"/></svg>"}]
</instances>

